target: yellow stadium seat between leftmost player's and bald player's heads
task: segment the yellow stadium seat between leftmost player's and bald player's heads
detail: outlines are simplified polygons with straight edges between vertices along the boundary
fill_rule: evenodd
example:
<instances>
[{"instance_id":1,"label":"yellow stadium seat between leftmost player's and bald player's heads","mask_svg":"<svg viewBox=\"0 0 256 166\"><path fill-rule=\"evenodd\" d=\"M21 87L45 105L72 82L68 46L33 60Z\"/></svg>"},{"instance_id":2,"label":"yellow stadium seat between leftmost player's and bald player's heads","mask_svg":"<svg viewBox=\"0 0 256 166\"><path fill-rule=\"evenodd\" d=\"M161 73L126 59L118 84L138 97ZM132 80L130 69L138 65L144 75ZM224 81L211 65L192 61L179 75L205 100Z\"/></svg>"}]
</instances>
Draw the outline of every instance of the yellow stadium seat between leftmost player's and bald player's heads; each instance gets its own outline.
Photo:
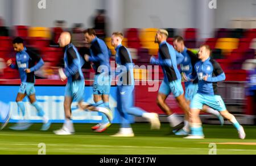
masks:
<instances>
[{"instance_id":1,"label":"yellow stadium seat between leftmost player's and bald player's heads","mask_svg":"<svg viewBox=\"0 0 256 166\"><path fill-rule=\"evenodd\" d=\"M31 27L28 29L28 36L51 39L51 29L47 27Z\"/></svg>"}]
</instances>

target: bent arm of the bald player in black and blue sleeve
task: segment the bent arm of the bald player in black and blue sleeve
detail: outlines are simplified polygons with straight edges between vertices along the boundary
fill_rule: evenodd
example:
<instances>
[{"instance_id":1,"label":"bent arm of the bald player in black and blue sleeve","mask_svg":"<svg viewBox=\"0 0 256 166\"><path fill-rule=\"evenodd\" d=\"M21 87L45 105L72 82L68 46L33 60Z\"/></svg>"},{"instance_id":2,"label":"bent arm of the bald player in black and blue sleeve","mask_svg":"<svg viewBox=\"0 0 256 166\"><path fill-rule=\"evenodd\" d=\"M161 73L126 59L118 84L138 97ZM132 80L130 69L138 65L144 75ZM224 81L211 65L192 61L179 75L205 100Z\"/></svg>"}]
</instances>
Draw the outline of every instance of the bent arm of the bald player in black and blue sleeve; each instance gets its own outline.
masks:
<instances>
[{"instance_id":1,"label":"bent arm of the bald player in black and blue sleeve","mask_svg":"<svg viewBox=\"0 0 256 166\"><path fill-rule=\"evenodd\" d=\"M79 70L79 59L77 58L77 54L75 52L75 50L73 48L69 48L67 51L67 56L72 59L72 63L69 64L65 70L64 70L64 74L67 77L73 76L75 75L78 70Z\"/></svg>"}]
</instances>

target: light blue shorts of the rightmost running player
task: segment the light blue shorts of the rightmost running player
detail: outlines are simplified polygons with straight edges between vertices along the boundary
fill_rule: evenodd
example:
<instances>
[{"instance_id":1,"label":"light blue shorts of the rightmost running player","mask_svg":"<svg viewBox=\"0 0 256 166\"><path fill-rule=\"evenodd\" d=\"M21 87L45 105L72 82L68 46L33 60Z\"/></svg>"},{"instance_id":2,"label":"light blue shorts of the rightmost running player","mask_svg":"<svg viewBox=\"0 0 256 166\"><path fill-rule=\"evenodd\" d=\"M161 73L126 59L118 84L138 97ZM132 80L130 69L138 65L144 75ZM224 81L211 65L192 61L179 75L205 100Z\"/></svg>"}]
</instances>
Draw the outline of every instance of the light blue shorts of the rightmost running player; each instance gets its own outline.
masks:
<instances>
[{"instance_id":1,"label":"light blue shorts of the rightmost running player","mask_svg":"<svg viewBox=\"0 0 256 166\"><path fill-rule=\"evenodd\" d=\"M203 105L207 105L217 111L225 111L226 106L221 96L209 96L197 93L191 101L191 109L203 109Z\"/></svg>"}]
</instances>

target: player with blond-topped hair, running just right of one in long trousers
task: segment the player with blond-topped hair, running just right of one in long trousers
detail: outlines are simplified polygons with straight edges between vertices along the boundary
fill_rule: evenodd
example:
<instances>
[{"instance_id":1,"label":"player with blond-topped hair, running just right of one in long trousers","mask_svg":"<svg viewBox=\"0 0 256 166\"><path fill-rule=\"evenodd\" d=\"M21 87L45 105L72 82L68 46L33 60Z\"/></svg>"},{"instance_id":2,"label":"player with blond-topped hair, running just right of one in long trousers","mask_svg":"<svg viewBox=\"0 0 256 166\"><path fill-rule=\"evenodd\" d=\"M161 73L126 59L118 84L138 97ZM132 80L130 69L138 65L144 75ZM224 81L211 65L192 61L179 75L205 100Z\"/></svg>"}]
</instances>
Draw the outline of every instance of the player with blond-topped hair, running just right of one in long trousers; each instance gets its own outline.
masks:
<instances>
[{"instance_id":1,"label":"player with blond-topped hair, running just right of one in long trousers","mask_svg":"<svg viewBox=\"0 0 256 166\"><path fill-rule=\"evenodd\" d=\"M184 110L185 119L187 119L187 121L189 116L189 105L184 98L184 90L181 85L181 75L177 68L177 63L180 63L181 61L177 57L177 52L174 47L166 42L167 38L168 32L166 30L158 30L155 36L155 42L159 43L159 55L158 59L152 56L150 63L160 65L163 69L164 80L159 88L157 104L160 109L168 115L167 119L170 122L171 127L177 128L180 126L179 124L181 124L182 121L175 113L172 113L166 103L166 98L170 93L174 95L179 106Z\"/></svg>"}]
</instances>

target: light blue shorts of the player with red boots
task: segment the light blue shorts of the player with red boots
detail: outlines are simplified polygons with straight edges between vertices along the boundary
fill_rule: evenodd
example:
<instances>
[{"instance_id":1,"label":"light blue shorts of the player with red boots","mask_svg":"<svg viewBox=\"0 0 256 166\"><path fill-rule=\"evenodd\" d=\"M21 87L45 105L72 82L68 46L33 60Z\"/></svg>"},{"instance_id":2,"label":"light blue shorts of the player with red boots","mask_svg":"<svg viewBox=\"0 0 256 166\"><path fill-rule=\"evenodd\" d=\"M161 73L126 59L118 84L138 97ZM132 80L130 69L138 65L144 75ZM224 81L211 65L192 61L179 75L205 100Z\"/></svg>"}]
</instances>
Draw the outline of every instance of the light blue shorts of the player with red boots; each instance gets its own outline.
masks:
<instances>
[{"instance_id":1,"label":"light blue shorts of the player with red boots","mask_svg":"<svg viewBox=\"0 0 256 166\"><path fill-rule=\"evenodd\" d=\"M97 74L94 76L93 94L107 94L110 93L111 79L109 75Z\"/></svg>"}]
</instances>

